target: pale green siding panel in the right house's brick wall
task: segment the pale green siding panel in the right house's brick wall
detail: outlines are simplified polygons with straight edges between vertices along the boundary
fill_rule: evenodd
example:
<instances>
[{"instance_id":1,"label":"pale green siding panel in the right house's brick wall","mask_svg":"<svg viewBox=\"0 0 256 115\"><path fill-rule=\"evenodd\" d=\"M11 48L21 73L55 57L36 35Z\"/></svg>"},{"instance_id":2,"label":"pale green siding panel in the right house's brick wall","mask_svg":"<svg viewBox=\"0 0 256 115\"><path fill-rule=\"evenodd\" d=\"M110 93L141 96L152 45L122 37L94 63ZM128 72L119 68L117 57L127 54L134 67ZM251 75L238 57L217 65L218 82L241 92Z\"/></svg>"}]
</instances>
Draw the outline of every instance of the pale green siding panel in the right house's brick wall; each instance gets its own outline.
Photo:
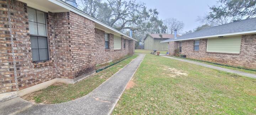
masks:
<instances>
[{"instance_id":1,"label":"pale green siding panel in the right house's brick wall","mask_svg":"<svg viewBox=\"0 0 256 115\"><path fill-rule=\"evenodd\" d=\"M207 51L219 53L240 53L241 36L209 38Z\"/></svg>"}]
</instances>

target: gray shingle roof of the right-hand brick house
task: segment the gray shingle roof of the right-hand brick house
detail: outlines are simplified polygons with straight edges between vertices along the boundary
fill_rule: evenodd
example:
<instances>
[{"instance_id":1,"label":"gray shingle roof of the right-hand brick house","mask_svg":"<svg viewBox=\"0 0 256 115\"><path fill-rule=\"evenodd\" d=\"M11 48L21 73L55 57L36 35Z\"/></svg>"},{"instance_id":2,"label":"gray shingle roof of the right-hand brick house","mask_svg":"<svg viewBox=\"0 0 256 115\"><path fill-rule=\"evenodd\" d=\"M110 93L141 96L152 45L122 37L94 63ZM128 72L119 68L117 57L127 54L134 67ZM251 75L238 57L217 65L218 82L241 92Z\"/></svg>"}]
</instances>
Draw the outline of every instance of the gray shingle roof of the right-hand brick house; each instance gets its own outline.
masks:
<instances>
[{"instance_id":1,"label":"gray shingle roof of the right-hand brick house","mask_svg":"<svg viewBox=\"0 0 256 115\"><path fill-rule=\"evenodd\" d=\"M203 29L201 31L182 35L180 37L177 37L175 41L209 36L209 35L228 34L228 33L235 33L235 32L254 31L254 30L256 30L256 18L250 18L250 19L227 23L219 26L214 26L214 27ZM170 41L173 41L173 39L167 39L162 42L170 42Z\"/></svg>"}]
</instances>

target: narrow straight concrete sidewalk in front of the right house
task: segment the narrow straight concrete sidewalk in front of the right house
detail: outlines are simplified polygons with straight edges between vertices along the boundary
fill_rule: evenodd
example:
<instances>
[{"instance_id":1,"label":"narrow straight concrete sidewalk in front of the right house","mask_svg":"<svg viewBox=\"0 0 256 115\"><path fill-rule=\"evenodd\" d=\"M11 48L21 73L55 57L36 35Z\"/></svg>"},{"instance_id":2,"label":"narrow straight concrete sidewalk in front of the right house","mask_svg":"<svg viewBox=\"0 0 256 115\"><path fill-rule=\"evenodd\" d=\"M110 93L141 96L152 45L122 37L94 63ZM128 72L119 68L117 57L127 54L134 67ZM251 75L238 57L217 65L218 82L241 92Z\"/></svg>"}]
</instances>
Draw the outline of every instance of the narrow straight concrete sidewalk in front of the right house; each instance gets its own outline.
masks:
<instances>
[{"instance_id":1,"label":"narrow straight concrete sidewalk in front of the right house","mask_svg":"<svg viewBox=\"0 0 256 115\"><path fill-rule=\"evenodd\" d=\"M204 64L204 63L196 62L196 61L179 59L179 58L171 57L171 56L162 56L162 57L167 57L167 58L174 59L174 60L184 61L184 62L188 62L188 63L191 63L191 64L201 65L201 66L204 66L204 67L209 67L209 68L212 68L212 69L216 69L216 70L220 70L220 71L225 71L225 72L229 72L229 73L236 73L238 75L242 75L242 76L246 76L246 77L256 78L256 75L252 74L252 73L246 73L246 72L241 72L241 71L236 71L236 70L230 70L230 69L226 69L226 68L223 68L223 67L213 66L213 65L209 65L209 64Z\"/></svg>"}]
</instances>

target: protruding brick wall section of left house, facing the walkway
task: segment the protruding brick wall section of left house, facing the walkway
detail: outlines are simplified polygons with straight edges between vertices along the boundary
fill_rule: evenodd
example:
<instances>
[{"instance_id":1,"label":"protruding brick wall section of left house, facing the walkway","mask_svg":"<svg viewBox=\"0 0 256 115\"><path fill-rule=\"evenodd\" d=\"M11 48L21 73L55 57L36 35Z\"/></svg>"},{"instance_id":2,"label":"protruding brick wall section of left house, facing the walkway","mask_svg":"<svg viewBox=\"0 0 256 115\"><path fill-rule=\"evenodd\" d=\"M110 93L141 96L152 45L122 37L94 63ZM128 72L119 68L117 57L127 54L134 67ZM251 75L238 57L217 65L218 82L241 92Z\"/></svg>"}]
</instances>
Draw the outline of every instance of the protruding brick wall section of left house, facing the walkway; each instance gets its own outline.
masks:
<instances>
[{"instance_id":1,"label":"protruding brick wall section of left house, facing the walkway","mask_svg":"<svg viewBox=\"0 0 256 115\"><path fill-rule=\"evenodd\" d=\"M69 17L72 77L76 78L95 70L95 25L71 11Z\"/></svg>"}]
</instances>

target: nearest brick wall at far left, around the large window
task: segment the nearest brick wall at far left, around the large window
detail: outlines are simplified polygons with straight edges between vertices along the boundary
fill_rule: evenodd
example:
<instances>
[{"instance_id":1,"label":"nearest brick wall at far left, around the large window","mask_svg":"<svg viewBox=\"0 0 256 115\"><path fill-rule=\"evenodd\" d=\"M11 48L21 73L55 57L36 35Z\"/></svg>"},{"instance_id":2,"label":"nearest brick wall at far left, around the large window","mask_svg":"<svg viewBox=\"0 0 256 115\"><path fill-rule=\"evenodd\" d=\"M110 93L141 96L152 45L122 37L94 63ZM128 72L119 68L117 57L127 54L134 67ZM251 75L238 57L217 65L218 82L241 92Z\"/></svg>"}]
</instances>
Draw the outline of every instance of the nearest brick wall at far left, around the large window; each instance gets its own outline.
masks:
<instances>
[{"instance_id":1,"label":"nearest brick wall at far left, around the large window","mask_svg":"<svg viewBox=\"0 0 256 115\"><path fill-rule=\"evenodd\" d=\"M7 3L8 2L8 3ZM55 65L34 68L32 63L27 5L16 0L1 1L0 93L21 90L56 77ZM7 10L9 9L9 11ZM12 34L12 35L11 35ZM51 55L51 54L50 54Z\"/></svg>"}]
</instances>

